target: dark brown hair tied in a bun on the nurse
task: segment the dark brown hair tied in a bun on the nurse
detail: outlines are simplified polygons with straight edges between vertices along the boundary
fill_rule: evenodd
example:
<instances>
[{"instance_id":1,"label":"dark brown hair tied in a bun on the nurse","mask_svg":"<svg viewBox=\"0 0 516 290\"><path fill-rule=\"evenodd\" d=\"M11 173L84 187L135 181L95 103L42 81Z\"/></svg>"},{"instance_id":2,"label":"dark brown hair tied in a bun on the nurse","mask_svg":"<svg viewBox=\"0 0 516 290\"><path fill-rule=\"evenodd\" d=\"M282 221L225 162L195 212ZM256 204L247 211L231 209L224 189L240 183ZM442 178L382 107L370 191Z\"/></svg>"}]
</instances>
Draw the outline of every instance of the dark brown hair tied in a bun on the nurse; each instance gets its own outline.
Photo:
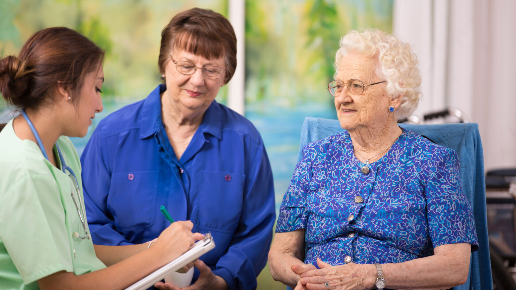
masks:
<instances>
[{"instance_id":1,"label":"dark brown hair tied in a bun on the nurse","mask_svg":"<svg viewBox=\"0 0 516 290\"><path fill-rule=\"evenodd\" d=\"M57 83L67 86L78 101L86 74L98 69L104 50L66 27L38 31L23 45L18 57L0 59L0 92L8 104L38 109L51 101Z\"/></svg>"}]
</instances>

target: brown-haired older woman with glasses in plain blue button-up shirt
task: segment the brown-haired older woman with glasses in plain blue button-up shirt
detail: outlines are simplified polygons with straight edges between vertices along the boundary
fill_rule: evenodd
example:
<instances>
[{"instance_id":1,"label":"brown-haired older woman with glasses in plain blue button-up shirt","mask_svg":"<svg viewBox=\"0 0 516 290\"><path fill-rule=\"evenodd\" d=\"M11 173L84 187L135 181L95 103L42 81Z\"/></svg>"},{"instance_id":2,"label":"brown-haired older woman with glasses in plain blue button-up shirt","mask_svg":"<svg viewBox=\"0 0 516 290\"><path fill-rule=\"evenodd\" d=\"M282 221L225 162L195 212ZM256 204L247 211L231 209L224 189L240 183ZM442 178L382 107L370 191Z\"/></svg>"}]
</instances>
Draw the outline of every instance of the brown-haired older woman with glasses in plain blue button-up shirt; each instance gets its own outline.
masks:
<instances>
[{"instance_id":1,"label":"brown-haired older woman with glasses in plain blue button-up shirt","mask_svg":"<svg viewBox=\"0 0 516 290\"><path fill-rule=\"evenodd\" d=\"M212 10L175 15L158 66L164 84L103 119L81 157L93 241L156 238L170 224L164 205L217 245L187 289L251 289L267 262L275 202L260 134L214 100L235 72L233 27Z\"/></svg>"}]
</instances>

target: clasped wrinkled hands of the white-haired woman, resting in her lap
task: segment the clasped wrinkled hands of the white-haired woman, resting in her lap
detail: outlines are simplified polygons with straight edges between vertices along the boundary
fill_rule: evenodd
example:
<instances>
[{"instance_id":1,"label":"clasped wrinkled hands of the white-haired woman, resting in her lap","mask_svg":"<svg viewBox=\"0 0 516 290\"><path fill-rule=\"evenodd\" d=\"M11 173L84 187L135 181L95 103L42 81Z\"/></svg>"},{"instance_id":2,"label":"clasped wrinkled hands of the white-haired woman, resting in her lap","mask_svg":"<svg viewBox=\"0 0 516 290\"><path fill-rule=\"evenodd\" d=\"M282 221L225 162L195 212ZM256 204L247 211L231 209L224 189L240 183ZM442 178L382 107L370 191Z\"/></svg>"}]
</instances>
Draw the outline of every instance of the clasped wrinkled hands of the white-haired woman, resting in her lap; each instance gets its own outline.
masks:
<instances>
[{"instance_id":1,"label":"clasped wrinkled hands of the white-haired woman, resting in her lap","mask_svg":"<svg viewBox=\"0 0 516 290\"><path fill-rule=\"evenodd\" d=\"M374 281L373 275L368 275L366 267L374 265L359 265L349 263L345 265L332 266L328 263L317 259L317 266L320 269L305 271L301 273L299 283L308 290L327 290L327 289L344 289L344 290L362 290L369 289ZM369 277L372 276L372 277ZM298 283L298 284L299 284ZM326 286L328 283L328 286ZM296 290L298 287L296 287Z\"/></svg>"}]
</instances>

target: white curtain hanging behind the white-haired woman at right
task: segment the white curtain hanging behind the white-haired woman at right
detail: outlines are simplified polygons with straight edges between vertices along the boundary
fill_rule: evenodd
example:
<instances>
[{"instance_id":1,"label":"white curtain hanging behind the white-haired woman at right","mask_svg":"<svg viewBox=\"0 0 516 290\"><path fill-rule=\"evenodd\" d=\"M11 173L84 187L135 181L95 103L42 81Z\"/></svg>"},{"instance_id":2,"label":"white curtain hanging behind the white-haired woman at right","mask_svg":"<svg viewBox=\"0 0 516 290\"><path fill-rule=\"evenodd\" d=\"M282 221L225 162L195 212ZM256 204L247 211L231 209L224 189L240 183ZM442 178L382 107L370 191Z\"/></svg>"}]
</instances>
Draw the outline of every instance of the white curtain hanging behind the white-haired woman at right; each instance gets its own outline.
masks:
<instances>
[{"instance_id":1,"label":"white curtain hanging behind the white-haired woman at right","mask_svg":"<svg viewBox=\"0 0 516 290\"><path fill-rule=\"evenodd\" d=\"M516 167L514 11L514 0L394 0L393 33L423 77L414 115L461 110L479 125L486 170Z\"/></svg>"}]
</instances>

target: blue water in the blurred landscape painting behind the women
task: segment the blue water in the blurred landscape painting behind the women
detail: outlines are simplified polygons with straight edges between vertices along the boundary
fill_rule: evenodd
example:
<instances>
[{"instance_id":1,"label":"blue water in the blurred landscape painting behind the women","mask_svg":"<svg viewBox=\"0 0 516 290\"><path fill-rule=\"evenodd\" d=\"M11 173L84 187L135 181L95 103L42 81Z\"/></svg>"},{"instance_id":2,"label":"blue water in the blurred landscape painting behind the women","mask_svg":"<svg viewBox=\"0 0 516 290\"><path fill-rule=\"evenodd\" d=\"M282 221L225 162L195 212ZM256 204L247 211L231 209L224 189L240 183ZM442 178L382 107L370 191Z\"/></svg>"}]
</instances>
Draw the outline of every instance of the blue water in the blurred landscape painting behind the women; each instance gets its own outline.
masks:
<instances>
[{"instance_id":1,"label":"blue water in the blurred landscape painting behind the women","mask_svg":"<svg viewBox=\"0 0 516 290\"><path fill-rule=\"evenodd\" d=\"M96 114L88 134L84 138L70 138L80 155L88 142L93 130L102 118L115 110L136 102L138 100L106 100L104 110ZM274 177L276 192L276 212L278 213L283 194L292 178L296 166L301 126L305 117L320 117L335 119L333 103L303 103L297 106L272 106L266 103L246 105L246 118L248 118L260 131L269 156ZM0 123L12 118L12 113L7 110L0 112Z\"/></svg>"}]
</instances>

